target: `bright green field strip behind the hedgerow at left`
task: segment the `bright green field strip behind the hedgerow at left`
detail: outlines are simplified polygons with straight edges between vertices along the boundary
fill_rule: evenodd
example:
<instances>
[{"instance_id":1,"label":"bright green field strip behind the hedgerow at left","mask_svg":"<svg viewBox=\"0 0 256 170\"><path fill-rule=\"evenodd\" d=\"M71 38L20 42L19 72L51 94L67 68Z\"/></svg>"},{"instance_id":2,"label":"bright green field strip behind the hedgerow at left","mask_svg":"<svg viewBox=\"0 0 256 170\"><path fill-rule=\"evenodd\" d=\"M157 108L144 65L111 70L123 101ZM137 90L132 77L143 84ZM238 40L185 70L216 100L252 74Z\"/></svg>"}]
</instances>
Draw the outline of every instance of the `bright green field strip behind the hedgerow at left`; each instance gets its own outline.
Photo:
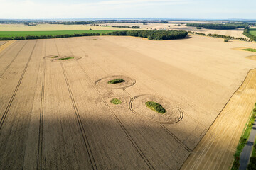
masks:
<instances>
[{"instance_id":1,"label":"bright green field strip behind the hedgerow at left","mask_svg":"<svg viewBox=\"0 0 256 170\"><path fill-rule=\"evenodd\" d=\"M0 31L0 37L23 37L28 35L64 35L74 33L110 33L116 30L50 30L50 31Z\"/></svg>"}]
</instances>

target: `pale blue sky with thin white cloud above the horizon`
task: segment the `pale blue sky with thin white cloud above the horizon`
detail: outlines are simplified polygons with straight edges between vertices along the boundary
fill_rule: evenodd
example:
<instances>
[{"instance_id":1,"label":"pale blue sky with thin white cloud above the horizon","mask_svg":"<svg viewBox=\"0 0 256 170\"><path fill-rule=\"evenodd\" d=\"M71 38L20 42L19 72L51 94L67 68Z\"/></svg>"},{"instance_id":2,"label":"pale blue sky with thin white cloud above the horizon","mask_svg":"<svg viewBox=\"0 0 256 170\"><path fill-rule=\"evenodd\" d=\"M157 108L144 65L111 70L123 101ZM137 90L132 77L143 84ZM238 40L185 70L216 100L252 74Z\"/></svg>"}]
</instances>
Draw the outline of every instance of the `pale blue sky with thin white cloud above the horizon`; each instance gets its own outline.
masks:
<instances>
[{"instance_id":1,"label":"pale blue sky with thin white cloud above the horizon","mask_svg":"<svg viewBox=\"0 0 256 170\"><path fill-rule=\"evenodd\" d=\"M0 18L256 19L255 0L0 0Z\"/></svg>"}]
</instances>

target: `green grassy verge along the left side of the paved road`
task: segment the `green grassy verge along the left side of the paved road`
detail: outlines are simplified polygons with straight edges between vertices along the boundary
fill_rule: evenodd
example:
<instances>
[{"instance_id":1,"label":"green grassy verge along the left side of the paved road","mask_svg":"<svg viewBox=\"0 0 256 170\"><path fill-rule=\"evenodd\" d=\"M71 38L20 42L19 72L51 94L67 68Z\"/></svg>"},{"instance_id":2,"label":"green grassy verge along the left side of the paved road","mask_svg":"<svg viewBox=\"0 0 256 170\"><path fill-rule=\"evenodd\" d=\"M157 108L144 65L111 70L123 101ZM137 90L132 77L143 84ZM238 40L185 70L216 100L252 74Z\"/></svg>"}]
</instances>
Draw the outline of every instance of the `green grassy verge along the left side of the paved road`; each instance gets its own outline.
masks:
<instances>
[{"instance_id":1,"label":"green grassy verge along the left side of the paved road","mask_svg":"<svg viewBox=\"0 0 256 170\"><path fill-rule=\"evenodd\" d=\"M242 136L240 137L240 140L238 142L238 146L234 154L235 160L233 162L233 166L231 170L239 169L240 154L242 152L242 149L245 147L248 137L250 136L250 132L252 130L252 123L254 123L254 120L255 120L255 114L256 114L256 103L255 103L255 108L252 111L252 115L250 116L250 119L247 121L245 128L242 132Z\"/></svg>"}]
</instances>

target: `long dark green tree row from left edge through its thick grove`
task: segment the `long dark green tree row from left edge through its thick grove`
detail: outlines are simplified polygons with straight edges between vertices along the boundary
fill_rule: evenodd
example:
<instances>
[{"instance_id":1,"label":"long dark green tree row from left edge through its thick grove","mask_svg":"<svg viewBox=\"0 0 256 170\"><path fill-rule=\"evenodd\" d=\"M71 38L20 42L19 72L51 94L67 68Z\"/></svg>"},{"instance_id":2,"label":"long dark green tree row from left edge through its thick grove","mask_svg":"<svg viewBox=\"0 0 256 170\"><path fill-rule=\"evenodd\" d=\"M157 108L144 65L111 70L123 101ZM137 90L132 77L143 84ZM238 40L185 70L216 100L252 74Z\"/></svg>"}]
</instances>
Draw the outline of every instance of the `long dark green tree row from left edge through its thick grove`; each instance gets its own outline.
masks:
<instances>
[{"instance_id":1,"label":"long dark green tree row from left edge through its thick grove","mask_svg":"<svg viewBox=\"0 0 256 170\"><path fill-rule=\"evenodd\" d=\"M1 37L0 40L31 40L31 39L48 39L48 38L68 38L68 37L82 37L82 36L97 36L100 33L75 33L65 35L28 35L21 37ZM174 40L185 38L188 32L183 30L124 30L114 31L112 33L102 33L102 35L130 35L134 37L148 38L149 40Z\"/></svg>"}]
</instances>

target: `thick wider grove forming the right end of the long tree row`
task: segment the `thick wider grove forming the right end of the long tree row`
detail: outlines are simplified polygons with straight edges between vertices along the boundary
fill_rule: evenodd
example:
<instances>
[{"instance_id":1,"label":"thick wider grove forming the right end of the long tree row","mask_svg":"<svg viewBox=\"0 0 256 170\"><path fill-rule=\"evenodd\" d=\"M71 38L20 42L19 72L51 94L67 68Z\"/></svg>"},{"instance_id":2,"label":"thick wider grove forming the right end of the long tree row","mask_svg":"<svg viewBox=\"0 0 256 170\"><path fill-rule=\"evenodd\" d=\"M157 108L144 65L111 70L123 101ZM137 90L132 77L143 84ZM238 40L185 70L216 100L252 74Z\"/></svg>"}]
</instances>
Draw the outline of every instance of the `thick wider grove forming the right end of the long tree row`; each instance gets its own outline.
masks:
<instances>
[{"instance_id":1,"label":"thick wider grove forming the right end of the long tree row","mask_svg":"<svg viewBox=\"0 0 256 170\"><path fill-rule=\"evenodd\" d=\"M188 32L184 30L124 30L124 31L114 31L112 33L102 33L102 35L120 35L120 36L133 36L148 38L149 40L174 40L186 38Z\"/></svg>"}]
</instances>

